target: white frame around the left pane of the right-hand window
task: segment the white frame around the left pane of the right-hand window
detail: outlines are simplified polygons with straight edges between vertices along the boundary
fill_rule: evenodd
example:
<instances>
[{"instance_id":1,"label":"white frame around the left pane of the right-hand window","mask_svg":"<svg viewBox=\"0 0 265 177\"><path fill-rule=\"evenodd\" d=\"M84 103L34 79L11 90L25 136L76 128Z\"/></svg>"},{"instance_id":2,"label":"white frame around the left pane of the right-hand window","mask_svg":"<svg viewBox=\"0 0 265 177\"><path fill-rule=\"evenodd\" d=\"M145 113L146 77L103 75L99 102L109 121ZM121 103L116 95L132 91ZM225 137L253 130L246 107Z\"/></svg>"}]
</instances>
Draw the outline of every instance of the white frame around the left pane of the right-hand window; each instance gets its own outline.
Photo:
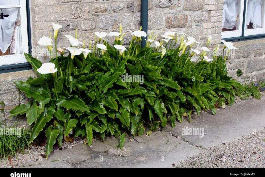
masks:
<instances>
[{"instance_id":1,"label":"white frame around the left pane of the right-hand window","mask_svg":"<svg viewBox=\"0 0 265 177\"><path fill-rule=\"evenodd\" d=\"M221 38L225 39L225 38L231 38L231 37L240 37L242 36L242 27L243 27L243 14L244 14L244 0L240 0L240 5L239 5L239 17L238 17L238 26L239 29L238 30L234 30L234 31L224 31L221 33Z\"/></svg>"}]
</instances>

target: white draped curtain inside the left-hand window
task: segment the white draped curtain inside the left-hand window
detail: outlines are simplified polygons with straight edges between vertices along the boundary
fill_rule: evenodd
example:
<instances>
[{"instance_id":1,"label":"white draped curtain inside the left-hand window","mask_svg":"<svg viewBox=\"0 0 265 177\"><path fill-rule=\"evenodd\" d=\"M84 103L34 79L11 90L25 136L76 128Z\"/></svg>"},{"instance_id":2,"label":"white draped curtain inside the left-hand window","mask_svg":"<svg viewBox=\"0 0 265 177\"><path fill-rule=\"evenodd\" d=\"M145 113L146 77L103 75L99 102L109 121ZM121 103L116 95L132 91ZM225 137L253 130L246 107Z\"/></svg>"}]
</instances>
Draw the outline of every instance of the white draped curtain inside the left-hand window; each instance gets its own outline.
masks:
<instances>
[{"instance_id":1,"label":"white draped curtain inside the left-hand window","mask_svg":"<svg viewBox=\"0 0 265 177\"><path fill-rule=\"evenodd\" d=\"M0 5L17 5L19 0L1 0ZM5 53L12 42L12 37L15 28L15 22L17 21L18 8L15 9L2 9L4 14L8 14L9 17L0 19L0 50Z\"/></svg>"}]
</instances>

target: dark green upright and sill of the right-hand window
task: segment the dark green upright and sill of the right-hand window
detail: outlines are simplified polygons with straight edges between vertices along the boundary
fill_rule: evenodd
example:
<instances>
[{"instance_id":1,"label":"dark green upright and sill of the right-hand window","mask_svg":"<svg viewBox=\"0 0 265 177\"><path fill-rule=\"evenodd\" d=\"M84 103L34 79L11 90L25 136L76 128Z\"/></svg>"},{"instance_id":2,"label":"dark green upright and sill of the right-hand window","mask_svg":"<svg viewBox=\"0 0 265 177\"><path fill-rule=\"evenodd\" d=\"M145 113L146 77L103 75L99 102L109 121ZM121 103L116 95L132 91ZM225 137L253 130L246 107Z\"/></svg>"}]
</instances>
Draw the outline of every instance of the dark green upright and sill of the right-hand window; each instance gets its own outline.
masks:
<instances>
[{"instance_id":1,"label":"dark green upright and sill of the right-hand window","mask_svg":"<svg viewBox=\"0 0 265 177\"><path fill-rule=\"evenodd\" d=\"M243 23L242 23L242 36L240 37L230 37L230 38L224 38L222 40L225 41L245 41L245 40L251 40L251 39L260 39L260 38L265 38L265 34L259 34L259 35L251 35L251 36L244 36L244 31L245 31L245 17L246 17L246 3L247 0L244 0L244 11L243 11ZM264 24L265 25L265 24Z\"/></svg>"}]
</instances>

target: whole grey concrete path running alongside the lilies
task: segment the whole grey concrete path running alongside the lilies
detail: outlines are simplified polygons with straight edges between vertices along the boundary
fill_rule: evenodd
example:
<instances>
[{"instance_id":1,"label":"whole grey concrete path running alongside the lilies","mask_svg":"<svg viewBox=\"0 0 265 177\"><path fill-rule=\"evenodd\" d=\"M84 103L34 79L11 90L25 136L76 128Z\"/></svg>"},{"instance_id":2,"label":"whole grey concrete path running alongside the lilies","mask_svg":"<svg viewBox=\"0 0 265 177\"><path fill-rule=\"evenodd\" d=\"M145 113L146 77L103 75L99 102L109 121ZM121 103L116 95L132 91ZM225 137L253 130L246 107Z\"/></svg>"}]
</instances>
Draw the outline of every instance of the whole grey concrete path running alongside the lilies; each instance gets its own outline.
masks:
<instances>
[{"instance_id":1,"label":"whole grey concrete path running alongside the lilies","mask_svg":"<svg viewBox=\"0 0 265 177\"><path fill-rule=\"evenodd\" d=\"M47 160L24 164L25 167L172 167L202 152L202 149L240 139L265 126L265 96L261 100L242 100L217 115L203 112L192 122L183 120L176 128L167 125L148 136L127 134L123 150L117 149L117 138L93 142L92 147L78 144L52 152ZM184 129L183 129L184 128ZM191 129L190 129L191 128ZM195 128L195 129L193 129ZM183 130L199 130L200 135L183 135Z\"/></svg>"}]
</instances>

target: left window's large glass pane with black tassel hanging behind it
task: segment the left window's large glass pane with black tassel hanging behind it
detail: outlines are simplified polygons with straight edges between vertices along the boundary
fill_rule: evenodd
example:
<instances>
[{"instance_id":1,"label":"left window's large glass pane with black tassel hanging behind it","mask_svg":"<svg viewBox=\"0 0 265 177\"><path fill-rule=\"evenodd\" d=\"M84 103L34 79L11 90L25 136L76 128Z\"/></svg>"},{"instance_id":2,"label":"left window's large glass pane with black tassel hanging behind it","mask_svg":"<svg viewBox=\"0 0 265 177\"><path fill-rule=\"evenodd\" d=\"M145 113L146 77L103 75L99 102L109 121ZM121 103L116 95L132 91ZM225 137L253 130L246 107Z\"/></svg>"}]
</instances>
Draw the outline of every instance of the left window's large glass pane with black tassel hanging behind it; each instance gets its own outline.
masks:
<instances>
[{"instance_id":1,"label":"left window's large glass pane with black tassel hanging behind it","mask_svg":"<svg viewBox=\"0 0 265 177\"><path fill-rule=\"evenodd\" d=\"M1 9L0 56L22 53L20 9ZM8 16L7 16L8 15Z\"/></svg>"}]
</instances>

